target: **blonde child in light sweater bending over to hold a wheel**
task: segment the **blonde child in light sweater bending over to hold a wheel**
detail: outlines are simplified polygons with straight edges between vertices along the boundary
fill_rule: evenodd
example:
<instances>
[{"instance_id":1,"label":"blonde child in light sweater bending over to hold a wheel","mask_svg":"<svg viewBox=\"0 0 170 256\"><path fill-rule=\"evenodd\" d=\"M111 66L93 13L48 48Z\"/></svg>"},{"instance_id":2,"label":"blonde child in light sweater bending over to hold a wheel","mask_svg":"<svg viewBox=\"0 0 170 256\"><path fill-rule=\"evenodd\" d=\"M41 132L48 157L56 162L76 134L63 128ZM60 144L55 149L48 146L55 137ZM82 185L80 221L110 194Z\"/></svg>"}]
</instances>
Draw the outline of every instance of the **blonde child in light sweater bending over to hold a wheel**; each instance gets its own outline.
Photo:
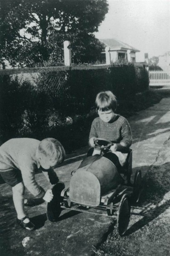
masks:
<instances>
[{"instance_id":1,"label":"blonde child in light sweater bending over to hold a wheel","mask_svg":"<svg viewBox=\"0 0 170 256\"><path fill-rule=\"evenodd\" d=\"M37 183L35 172L41 167L46 178L55 184L58 177L53 169L64 158L65 150L54 138L41 142L33 138L13 138L0 146L0 174L12 187L17 223L24 229L34 230L35 227L24 211L24 186L35 197L50 202L52 191L45 191Z\"/></svg>"}]
</instances>

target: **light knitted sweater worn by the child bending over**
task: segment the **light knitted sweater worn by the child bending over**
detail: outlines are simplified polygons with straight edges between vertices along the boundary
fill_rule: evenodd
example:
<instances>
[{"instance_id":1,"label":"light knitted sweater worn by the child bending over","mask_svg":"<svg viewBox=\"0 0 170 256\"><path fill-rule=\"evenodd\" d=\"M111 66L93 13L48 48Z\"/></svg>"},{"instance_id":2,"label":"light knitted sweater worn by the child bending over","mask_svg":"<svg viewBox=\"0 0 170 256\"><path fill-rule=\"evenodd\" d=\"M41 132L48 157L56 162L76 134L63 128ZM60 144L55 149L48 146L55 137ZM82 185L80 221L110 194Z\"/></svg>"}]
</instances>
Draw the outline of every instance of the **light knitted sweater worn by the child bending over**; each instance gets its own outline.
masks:
<instances>
[{"instance_id":1,"label":"light knitted sweater worn by the child bending over","mask_svg":"<svg viewBox=\"0 0 170 256\"><path fill-rule=\"evenodd\" d=\"M35 180L39 161L35 157L39 140L14 138L0 146L0 172L19 169L26 188L36 197L44 197L45 191ZM47 174L44 173L47 177ZM48 178L48 177L47 177Z\"/></svg>"}]
</instances>

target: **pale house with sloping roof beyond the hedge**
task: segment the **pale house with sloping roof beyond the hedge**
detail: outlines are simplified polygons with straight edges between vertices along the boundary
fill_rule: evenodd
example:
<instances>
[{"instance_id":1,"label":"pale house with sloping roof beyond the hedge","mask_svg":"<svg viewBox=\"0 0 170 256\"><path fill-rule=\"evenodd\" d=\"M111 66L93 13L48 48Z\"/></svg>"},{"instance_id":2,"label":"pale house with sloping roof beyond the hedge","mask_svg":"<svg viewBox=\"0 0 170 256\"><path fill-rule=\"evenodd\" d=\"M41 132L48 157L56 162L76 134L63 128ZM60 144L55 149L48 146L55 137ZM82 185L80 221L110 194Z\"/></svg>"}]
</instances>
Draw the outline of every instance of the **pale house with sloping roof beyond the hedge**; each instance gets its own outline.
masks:
<instances>
[{"instance_id":1,"label":"pale house with sloping roof beyond the hedge","mask_svg":"<svg viewBox=\"0 0 170 256\"><path fill-rule=\"evenodd\" d=\"M130 62L136 62L136 52L139 52L136 48L127 45L117 39L100 39L105 47L110 47L111 61L127 60ZM103 59L106 52L102 52Z\"/></svg>"}]
</instances>

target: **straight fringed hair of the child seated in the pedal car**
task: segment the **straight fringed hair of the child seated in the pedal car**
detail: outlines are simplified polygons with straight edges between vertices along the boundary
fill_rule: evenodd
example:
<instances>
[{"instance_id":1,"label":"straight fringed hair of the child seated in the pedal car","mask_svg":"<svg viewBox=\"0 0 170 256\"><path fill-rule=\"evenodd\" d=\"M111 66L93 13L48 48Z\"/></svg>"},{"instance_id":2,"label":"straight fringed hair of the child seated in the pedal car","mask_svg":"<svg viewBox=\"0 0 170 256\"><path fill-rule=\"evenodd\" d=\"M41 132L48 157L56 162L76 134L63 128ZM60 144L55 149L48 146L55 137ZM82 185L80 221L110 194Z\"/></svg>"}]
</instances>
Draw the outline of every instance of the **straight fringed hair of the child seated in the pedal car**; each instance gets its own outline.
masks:
<instances>
[{"instance_id":1,"label":"straight fringed hair of the child seated in the pedal car","mask_svg":"<svg viewBox=\"0 0 170 256\"><path fill-rule=\"evenodd\" d=\"M107 111L117 109L117 98L111 91L99 92L96 96L96 107L99 111Z\"/></svg>"}]
</instances>

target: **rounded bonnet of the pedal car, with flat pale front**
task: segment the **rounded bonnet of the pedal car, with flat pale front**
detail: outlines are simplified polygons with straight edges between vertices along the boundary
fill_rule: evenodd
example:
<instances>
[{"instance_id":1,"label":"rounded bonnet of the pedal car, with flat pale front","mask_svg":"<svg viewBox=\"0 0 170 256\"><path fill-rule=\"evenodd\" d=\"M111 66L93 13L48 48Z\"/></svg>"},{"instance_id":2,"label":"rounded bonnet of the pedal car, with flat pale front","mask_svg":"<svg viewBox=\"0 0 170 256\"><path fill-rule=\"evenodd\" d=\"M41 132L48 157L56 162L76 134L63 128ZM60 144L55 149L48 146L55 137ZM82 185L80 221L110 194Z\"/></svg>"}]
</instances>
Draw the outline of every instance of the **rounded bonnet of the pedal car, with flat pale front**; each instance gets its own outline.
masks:
<instances>
[{"instance_id":1,"label":"rounded bonnet of the pedal car, with flat pale front","mask_svg":"<svg viewBox=\"0 0 170 256\"><path fill-rule=\"evenodd\" d=\"M121 175L111 160L98 154L89 156L70 180L69 198L78 204L98 206L102 195L121 183Z\"/></svg>"}]
</instances>

